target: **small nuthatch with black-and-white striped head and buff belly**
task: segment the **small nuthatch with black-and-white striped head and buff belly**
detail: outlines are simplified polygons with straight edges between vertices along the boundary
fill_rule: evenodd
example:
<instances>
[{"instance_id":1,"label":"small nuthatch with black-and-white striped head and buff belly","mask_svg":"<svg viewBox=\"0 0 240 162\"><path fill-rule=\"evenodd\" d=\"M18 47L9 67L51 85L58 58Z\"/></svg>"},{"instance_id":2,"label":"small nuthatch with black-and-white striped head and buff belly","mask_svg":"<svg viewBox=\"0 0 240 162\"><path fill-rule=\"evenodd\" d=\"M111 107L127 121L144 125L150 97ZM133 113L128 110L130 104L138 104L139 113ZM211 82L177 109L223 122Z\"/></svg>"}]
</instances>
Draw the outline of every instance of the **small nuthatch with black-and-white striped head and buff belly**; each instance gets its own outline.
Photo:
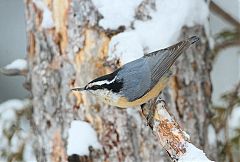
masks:
<instances>
[{"instance_id":1,"label":"small nuthatch with black-and-white striped head and buff belly","mask_svg":"<svg viewBox=\"0 0 240 162\"><path fill-rule=\"evenodd\" d=\"M90 81L72 91L87 91L103 102L119 108L140 106L157 97L166 87L171 66L192 44L200 39L192 36L126 63L114 72Z\"/></svg>"}]
</instances>

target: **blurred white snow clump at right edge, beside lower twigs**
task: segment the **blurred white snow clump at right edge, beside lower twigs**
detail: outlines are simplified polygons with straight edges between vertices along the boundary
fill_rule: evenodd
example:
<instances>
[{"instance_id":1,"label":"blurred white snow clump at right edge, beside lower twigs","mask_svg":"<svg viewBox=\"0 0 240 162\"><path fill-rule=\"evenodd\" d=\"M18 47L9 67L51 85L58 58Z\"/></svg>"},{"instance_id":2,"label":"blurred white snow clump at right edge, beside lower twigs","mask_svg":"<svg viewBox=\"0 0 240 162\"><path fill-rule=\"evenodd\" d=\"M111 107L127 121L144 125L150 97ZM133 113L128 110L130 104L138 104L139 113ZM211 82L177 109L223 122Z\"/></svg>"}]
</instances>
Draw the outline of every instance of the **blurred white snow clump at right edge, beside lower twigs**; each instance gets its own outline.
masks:
<instances>
[{"instance_id":1,"label":"blurred white snow clump at right edge, beside lower twigs","mask_svg":"<svg viewBox=\"0 0 240 162\"><path fill-rule=\"evenodd\" d=\"M240 129L240 107L236 107L232 110L232 113L228 120L229 125L229 137L233 138L237 135L236 129Z\"/></svg>"}]
</instances>

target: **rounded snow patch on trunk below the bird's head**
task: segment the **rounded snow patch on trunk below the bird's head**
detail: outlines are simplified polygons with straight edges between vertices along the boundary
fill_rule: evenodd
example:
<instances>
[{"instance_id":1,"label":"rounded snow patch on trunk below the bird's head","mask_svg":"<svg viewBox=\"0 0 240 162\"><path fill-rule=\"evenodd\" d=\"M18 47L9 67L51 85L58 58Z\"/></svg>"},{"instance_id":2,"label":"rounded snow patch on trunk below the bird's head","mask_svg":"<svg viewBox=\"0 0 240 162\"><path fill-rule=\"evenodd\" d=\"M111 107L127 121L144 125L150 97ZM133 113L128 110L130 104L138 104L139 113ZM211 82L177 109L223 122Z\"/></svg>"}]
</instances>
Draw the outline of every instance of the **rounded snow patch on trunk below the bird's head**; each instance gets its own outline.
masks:
<instances>
[{"instance_id":1,"label":"rounded snow patch on trunk below the bird's head","mask_svg":"<svg viewBox=\"0 0 240 162\"><path fill-rule=\"evenodd\" d=\"M72 121L68 134L68 155L88 155L90 146L96 149L101 148L95 130L87 122Z\"/></svg>"}]
</instances>

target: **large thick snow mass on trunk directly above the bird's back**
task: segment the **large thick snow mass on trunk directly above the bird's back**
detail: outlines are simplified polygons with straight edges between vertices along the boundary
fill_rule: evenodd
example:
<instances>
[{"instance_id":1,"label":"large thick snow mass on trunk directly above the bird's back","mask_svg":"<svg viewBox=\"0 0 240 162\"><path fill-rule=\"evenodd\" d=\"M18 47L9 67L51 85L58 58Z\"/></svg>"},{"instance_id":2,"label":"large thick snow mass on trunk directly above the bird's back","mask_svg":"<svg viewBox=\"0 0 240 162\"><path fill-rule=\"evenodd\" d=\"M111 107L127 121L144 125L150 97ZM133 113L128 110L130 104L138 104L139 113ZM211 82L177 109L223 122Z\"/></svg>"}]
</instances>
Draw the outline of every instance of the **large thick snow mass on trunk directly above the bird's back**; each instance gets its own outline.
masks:
<instances>
[{"instance_id":1,"label":"large thick snow mass on trunk directly above the bird's back","mask_svg":"<svg viewBox=\"0 0 240 162\"><path fill-rule=\"evenodd\" d=\"M122 8L113 8L113 10L120 12L116 10ZM176 43L184 25L204 25L207 23L208 14L207 3L202 0L158 0L156 11L150 12L151 20L136 20L133 23L134 29L127 29L111 39L109 59L120 58L121 63L125 64L142 57L145 52L170 46ZM114 19L117 19L117 16L111 15Z\"/></svg>"}]
</instances>

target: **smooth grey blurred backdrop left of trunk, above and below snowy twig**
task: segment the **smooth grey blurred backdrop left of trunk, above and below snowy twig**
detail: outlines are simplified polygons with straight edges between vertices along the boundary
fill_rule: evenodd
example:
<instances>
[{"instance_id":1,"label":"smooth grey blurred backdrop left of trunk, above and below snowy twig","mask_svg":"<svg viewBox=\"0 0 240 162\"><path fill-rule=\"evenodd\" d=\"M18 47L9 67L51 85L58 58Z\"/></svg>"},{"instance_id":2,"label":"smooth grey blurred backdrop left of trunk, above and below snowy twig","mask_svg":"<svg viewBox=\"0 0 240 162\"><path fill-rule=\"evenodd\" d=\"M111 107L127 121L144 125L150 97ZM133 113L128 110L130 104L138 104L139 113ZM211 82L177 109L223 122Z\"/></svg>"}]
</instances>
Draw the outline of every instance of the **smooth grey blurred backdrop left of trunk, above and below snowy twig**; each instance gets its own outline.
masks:
<instances>
[{"instance_id":1,"label":"smooth grey blurred backdrop left of trunk, above and below snowy twig","mask_svg":"<svg viewBox=\"0 0 240 162\"><path fill-rule=\"evenodd\" d=\"M16 0L0 1L0 67L7 65L18 58L25 58L27 53L27 33L24 17L24 3ZM13 78L0 76L0 102L11 98L23 99L27 96L27 91L23 88L24 77ZM14 93L13 93L14 92Z\"/></svg>"}]
</instances>

